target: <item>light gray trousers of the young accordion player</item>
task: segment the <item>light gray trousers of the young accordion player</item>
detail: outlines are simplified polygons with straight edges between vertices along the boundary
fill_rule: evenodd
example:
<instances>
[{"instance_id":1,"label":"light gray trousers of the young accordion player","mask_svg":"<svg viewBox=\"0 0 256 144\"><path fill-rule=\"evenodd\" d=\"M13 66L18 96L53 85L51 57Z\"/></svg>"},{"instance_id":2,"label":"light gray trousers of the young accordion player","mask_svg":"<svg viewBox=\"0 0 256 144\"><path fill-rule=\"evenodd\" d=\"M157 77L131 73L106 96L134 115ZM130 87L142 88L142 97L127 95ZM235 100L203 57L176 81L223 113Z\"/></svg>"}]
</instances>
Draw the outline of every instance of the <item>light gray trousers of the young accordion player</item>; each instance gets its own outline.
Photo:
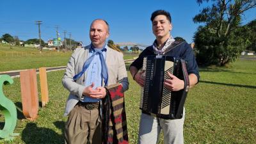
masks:
<instances>
[{"instance_id":1,"label":"light gray trousers of the young accordion player","mask_svg":"<svg viewBox=\"0 0 256 144\"><path fill-rule=\"evenodd\" d=\"M163 129L164 144L183 144L184 119L185 109L183 117L175 120L164 120L141 113L138 144L156 144L161 129Z\"/></svg>"}]
</instances>

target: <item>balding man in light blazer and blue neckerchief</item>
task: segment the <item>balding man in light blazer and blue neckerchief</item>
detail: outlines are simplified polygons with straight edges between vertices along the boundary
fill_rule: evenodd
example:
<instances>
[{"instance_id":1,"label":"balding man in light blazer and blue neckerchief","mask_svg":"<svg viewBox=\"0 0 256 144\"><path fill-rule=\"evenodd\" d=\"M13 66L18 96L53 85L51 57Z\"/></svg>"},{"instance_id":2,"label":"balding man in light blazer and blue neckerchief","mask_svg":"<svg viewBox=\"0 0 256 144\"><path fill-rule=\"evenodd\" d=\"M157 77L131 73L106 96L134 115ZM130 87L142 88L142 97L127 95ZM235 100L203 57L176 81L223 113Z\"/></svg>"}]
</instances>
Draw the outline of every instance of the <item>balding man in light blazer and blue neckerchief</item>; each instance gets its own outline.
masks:
<instances>
[{"instance_id":1,"label":"balding man in light blazer and blue neckerchief","mask_svg":"<svg viewBox=\"0 0 256 144\"><path fill-rule=\"evenodd\" d=\"M104 86L121 83L124 91L128 89L123 54L106 45L108 36L108 22L93 20L91 44L77 48L68 61L62 79L70 92L64 114L68 115L65 143L102 143L100 100L106 96Z\"/></svg>"}]
</instances>

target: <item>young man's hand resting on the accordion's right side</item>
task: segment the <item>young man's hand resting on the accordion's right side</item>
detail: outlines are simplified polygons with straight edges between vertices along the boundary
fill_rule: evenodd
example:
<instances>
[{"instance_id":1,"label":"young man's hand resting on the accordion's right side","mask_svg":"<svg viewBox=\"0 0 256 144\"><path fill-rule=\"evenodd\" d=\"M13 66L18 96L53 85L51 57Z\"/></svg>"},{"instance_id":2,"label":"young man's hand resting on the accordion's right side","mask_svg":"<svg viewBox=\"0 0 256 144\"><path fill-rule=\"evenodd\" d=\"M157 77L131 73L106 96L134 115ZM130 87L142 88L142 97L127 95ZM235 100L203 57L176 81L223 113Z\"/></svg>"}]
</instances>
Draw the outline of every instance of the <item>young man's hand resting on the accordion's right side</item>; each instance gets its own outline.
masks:
<instances>
[{"instance_id":1,"label":"young man's hand resting on the accordion's right side","mask_svg":"<svg viewBox=\"0 0 256 144\"><path fill-rule=\"evenodd\" d=\"M170 76L170 79L164 79L164 87L172 91L179 91L184 88L184 81L173 76L170 72L168 72L168 76Z\"/></svg>"}]
</instances>

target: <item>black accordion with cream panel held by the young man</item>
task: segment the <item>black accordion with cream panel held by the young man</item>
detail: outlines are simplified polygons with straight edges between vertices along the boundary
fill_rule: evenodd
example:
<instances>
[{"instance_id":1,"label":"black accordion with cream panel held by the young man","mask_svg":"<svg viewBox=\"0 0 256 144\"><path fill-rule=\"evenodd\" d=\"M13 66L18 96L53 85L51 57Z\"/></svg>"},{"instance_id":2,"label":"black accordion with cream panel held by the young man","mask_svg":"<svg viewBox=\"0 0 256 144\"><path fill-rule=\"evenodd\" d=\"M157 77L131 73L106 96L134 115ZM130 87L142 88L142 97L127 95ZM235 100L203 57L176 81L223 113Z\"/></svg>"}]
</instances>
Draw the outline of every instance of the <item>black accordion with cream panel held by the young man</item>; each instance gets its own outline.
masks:
<instances>
[{"instance_id":1,"label":"black accordion with cream panel held by the young man","mask_svg":"<svg viewBox=\"0 0 256 144\"><path fill-rule=\"evenodd\" d=\"M157 118L182 118L184 103L189 90L186 61L172 56L147 56L142 70L145 77L141 88L140 109L142 113ZM168 72L184 80L184 89L173 92L164 87L164 79L170 79Z\"/></svg>"}]
</instances>

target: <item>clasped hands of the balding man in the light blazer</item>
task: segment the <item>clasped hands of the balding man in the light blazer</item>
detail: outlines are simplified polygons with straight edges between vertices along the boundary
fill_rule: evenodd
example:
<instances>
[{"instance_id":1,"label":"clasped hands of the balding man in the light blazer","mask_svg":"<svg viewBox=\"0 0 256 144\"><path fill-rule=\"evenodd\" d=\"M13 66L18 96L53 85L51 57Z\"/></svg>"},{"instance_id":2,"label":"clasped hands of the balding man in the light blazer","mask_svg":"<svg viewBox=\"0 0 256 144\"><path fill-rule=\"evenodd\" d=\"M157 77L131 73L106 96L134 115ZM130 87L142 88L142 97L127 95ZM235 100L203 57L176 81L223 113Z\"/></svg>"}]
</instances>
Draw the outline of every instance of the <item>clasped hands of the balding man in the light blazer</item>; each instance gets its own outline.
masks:
<instances>
[{"instance_id":1,"label":"clasped hands of the balding man in the light blazer","mask_svg":"<svg viewBox=\"0 0 256 144\"><path fill-rule=\"evenodd\" d=\"M83 95L92 97L94 99L102 99L106 96L106 89L104 87L98 87L93 90L94 83L84 88Z\"/></svg>"}]
</instances>

